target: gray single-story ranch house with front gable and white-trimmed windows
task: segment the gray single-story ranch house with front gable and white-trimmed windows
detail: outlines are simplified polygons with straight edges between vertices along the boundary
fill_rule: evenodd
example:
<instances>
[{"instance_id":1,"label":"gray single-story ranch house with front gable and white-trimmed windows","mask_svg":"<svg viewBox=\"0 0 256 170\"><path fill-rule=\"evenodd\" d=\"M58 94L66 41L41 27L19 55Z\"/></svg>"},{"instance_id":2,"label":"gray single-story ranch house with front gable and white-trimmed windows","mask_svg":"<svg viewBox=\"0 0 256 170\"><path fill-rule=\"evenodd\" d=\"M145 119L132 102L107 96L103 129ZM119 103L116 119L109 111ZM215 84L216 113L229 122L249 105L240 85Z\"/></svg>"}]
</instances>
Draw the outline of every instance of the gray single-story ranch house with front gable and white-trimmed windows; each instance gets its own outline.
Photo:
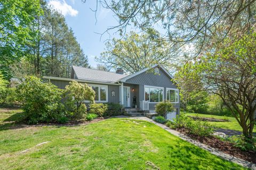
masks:
<instances>
[{"instance_id":1,"label":"gray single-story ranch house with front gable and white-trimmed windows","mask_svg":"<svg viewBox=\"0 0 256 170\"><path fill-rule=\"evenodd\" d=\"M175 115L179 114L179 89L172 75L162 65L154 65L131 75L123 73L122 69L113 73L73 66L70 79L43 79L49 80L60 89L65 89L72 80L87 83L95 91L96 103L119 103L127 110L140 109L154 113L158 102L170 100L174 104Z\"/></svg>"}]
</instances>

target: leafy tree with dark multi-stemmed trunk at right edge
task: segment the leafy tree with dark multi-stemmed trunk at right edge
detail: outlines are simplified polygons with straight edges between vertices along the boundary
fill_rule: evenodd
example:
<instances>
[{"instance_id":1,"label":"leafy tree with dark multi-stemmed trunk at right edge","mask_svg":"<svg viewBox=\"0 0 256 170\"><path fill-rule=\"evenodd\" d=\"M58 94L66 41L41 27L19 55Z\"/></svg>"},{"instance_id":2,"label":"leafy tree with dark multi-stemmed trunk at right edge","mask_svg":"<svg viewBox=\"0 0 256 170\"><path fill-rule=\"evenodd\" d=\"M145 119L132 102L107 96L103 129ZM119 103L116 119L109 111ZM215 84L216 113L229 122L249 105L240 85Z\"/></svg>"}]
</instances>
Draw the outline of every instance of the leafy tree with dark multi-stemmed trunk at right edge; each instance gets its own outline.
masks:
<instances>
[{"instance_id":1,"label":"leafy tree with dark multi-stemmed trunk at right edge","mask_svg":"<svg viewBox=\"0 0 256 170\"><path fill-rule=\"evenodd\" d=\"M214 55L195 60L188 81L198 82L220 96L243 128L252 137L256 111L256 33L250 33L234 43L227 39ZM195 81L196 80L196 81Z\"/></svg>"}]
</instances>

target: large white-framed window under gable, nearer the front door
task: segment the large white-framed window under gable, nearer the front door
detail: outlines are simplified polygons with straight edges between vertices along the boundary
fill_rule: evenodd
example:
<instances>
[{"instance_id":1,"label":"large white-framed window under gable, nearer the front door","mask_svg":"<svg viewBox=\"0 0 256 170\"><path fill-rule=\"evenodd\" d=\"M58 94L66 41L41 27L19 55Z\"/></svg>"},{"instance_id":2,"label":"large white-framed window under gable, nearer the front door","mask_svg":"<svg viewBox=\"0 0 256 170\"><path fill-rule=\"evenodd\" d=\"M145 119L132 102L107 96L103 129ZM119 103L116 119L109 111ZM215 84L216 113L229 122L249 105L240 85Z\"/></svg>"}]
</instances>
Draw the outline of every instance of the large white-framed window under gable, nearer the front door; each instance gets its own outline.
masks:
<instances>
[{"instance_id":1,"label":"large white-framed window under gable, nearer the front door","mask_svg":"<svg viewBox=\"0 0 256 170\"><path fill-rule=\"evenodd\" d=\"M145 86L145 100L151 103L163 101L163 91L162 87Z\"/></svg>"}]
</instances>

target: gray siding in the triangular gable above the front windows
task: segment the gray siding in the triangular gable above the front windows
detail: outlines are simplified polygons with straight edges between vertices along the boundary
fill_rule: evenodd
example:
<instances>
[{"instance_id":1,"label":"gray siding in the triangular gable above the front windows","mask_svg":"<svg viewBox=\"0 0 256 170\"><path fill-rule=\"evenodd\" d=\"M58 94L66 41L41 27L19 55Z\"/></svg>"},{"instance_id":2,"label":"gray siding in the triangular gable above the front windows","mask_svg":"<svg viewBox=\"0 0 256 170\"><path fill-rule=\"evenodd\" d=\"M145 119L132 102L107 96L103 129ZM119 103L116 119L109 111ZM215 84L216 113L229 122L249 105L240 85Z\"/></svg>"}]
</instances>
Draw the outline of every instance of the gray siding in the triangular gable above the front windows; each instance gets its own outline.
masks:
<instances>
[{"instance_id":1,"label":"gray siding in the triangular gable above the front windows","mask_svg":"<svg viewBox=\"0 0 256 170\"><path fill-rule=\"evenodd\" d=\"M177 86L172 83L171 78L162 69L159 69L159 74L154 74L153 72L140 73L135 77L126 80L126 83L177 88Z\"/></svg>"}]
</instances>

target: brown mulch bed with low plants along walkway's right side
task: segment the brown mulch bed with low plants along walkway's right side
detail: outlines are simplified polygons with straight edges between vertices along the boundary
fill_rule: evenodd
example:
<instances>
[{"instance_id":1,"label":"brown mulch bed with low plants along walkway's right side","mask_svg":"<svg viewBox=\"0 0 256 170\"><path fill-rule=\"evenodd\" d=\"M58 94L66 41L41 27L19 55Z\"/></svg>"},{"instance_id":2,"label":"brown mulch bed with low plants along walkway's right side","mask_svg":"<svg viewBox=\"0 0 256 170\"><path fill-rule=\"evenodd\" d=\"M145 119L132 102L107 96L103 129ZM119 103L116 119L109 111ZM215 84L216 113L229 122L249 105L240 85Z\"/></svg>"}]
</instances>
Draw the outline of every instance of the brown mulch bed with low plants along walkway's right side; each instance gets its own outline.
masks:
<instances>
[{"instance_id":1,"label":"brown mulch bed with low plants along walkway's right side","mask_svg":"<svg viewBox=\"0 0 256 170\"><path fill-rule=\"evenodd\" d=\"M208 145L212 148L217 148L226 154L247 160L248 162L256 163L256 152L243 151L240 148L235 147L234 144L231 142L222 141L222 140L212 137L212 136L211 137L200 137L195 134L190 134L188 132L188 130L186 130L184 128L176 129L176 130L182 134L186 134L188 137L190 137L196 141L204 143L205 145Z\"/></svg>"}]
</instances>

